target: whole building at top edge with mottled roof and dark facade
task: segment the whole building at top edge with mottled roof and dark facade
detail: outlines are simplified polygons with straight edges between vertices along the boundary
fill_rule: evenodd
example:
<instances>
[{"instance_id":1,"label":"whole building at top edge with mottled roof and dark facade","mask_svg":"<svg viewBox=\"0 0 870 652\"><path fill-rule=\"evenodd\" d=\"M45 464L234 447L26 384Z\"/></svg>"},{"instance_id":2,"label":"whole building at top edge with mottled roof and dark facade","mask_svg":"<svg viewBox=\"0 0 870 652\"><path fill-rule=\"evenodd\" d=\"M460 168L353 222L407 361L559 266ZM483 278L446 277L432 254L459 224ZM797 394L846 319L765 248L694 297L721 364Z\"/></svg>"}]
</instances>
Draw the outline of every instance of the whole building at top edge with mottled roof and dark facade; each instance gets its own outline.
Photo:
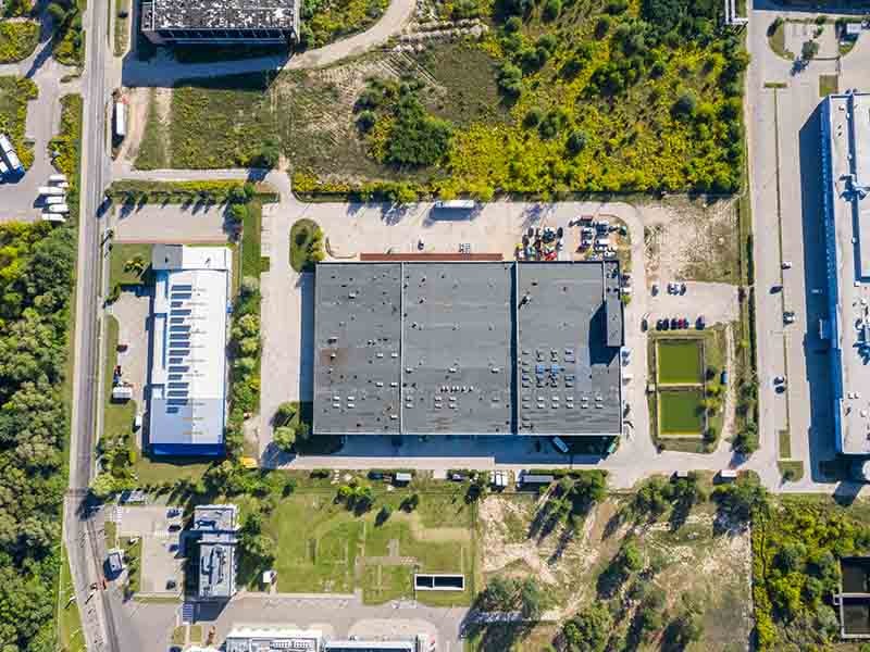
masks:
<instances>
[{"instance_id":1,"label":"whole building at top edge with mottled roof and dark facade","mask_svg":"<svg viewBox=\"0 0 870 652\"><path fill-rule=\"evenodd\" d=\"M142 34L157 45L291 43L298 0L146 0Z\"/></svg>"}]
</instances>

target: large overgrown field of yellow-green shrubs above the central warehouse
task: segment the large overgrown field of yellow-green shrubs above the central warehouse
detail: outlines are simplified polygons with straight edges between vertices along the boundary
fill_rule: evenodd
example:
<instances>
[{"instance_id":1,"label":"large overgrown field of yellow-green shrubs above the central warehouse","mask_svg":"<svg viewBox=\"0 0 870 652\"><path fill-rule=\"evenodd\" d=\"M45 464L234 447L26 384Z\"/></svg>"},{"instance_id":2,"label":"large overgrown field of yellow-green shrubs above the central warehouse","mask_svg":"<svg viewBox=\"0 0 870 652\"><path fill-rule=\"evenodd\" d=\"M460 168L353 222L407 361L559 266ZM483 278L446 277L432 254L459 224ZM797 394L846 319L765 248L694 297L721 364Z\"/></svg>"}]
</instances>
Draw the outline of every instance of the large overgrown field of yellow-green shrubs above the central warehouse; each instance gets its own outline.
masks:
<instances>
[{"instance_id":1,"label":"large overgrown field of yellow-green shrubs above the central warehouse","mask_svg":"<svg viewBox=\"0 0 870 652\"><path fill-rule=\"evenodd\" d=\"M501 0L472 9L490 24L478 40L375 52L316 75L181 84L169 116L171 164L250 165L278 139L303 193L737 188L748 59L739 35L720 27L719 3ZM148 131L158 128L149 122Z\"/></svg>"}]
</instances>

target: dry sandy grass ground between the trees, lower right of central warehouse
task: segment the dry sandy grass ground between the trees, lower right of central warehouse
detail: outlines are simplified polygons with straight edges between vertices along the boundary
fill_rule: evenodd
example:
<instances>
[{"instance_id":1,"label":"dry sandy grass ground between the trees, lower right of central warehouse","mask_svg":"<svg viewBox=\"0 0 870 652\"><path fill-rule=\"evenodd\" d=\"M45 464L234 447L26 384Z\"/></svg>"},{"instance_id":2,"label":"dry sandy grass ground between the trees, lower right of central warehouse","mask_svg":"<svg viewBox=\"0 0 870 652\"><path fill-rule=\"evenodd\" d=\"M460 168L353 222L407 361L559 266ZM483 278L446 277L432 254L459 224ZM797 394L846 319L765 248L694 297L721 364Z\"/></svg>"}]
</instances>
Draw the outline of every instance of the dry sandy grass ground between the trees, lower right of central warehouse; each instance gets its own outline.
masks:
<instances>
[{"instance_id":1,"label":"dry sandy grass ground between the trees, lower right of central warehouse","mask_svg":"<svg viewBox=\"0 0 870 652\"><path fill-rule=\"evenodd\" d=\"M544 499L490 496L480 506L482 570L495 576L533 577L547 598L554 622L511 628L499 623L471 632L471 652L542 652L557 649L564 622L589 604L612 615L609 642L595 650L669 650L662 644L670 618L686 609L699 614L700 640L685 652L736 652L750 636L750 549L746 532L720 534L714 506L701 503L687 514L669 511L636 524L626 515L629 499L611 496L575 526L560 525L540 536L534 527ZM606 581L613 559L632 540L643 569L623 581ZM638 639L639 594L664 593L660 624ZM629 598L633 595L633 598ZM644 632L642 632L644 634ZM591 648L592 649L592 648Z\"/></svg>"}]
</instances>

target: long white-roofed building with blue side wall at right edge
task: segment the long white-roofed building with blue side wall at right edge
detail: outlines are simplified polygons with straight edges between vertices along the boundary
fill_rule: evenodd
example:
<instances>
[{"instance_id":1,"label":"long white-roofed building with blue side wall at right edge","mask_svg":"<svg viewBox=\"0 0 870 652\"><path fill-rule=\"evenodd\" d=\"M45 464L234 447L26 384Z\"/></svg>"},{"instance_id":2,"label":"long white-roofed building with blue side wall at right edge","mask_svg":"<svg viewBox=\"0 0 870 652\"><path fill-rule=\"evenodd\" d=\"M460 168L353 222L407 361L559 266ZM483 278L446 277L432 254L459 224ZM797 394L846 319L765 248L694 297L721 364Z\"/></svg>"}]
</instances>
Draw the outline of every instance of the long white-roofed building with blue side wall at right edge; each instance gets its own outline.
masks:
<instances>
[{"instance_id":1,"label":"long white-roofed building with blue side wall at right edge","mask_svg":"<svg viewBox=\"0 0 870 652\"><path fill-rule=\"evenodd\" d=\"M824 238L836 450L870 454L870 95L822 106Z\"/></svg>"}]
</instances>

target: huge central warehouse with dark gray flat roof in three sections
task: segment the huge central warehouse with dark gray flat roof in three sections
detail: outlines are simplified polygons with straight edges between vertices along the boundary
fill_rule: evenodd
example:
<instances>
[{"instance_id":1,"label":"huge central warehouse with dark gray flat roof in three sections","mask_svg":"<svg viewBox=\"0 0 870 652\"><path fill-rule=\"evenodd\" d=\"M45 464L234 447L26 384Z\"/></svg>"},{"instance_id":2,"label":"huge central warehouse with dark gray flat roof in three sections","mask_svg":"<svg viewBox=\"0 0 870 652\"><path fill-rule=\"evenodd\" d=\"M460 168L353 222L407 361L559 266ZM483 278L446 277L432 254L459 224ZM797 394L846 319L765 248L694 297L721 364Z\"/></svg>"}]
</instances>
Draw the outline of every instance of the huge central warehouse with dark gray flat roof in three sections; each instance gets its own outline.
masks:
<instances>
[{"instance_id":1,"label":"huge central warehouse with dark gray flat roof in three sections","mask_svg":"<svg viewBox=\"0 0 870 652\"><path fill-rule=\"evenodd\" d=\"M321 263L315 435L622 430L609 262Z\"/></svg>"}]
</instances>

